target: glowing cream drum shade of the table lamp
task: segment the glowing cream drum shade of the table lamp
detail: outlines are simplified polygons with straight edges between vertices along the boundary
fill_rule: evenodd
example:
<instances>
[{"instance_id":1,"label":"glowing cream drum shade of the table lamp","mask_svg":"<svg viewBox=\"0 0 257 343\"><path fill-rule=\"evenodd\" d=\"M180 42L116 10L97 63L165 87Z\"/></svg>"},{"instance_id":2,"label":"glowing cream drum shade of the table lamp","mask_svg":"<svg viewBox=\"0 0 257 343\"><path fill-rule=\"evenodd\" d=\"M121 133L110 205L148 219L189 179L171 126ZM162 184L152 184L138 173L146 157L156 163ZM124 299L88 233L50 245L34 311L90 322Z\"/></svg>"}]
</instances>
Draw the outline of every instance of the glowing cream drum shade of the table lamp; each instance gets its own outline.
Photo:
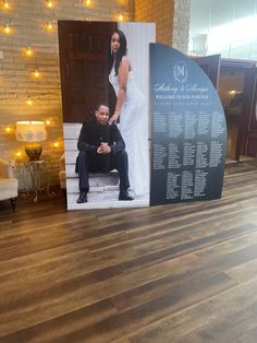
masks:
<instances>
[{"instance_id":1,"label":"glowing cream drum shade of the table lamp","mask_svg":"<svg viewBox=\"0 0 257 343\"><path fill-rule=\"evenodd\" d=\"M44 121L17 121L16 140L23 142L41 142L46 140L47 131Z\"/></svg>"}]
</instances>

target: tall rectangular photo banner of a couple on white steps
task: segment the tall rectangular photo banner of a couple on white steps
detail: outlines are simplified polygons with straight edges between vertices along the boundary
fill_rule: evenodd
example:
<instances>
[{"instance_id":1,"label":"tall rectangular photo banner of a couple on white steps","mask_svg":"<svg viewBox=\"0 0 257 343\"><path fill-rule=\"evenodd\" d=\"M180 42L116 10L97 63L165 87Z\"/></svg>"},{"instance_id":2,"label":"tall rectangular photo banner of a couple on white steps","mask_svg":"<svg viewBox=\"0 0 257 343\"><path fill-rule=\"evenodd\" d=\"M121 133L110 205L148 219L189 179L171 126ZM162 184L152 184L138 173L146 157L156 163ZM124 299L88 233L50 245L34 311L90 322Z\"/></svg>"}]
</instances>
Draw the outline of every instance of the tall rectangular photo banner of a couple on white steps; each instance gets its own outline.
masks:
<instances>
[{"instance_id":1,"label":"tall rectangular photo banner of a couple on white steps","mask_svg":"<svg viewBox=\"0 0 257 343\"><path fill-rule=\"evenodd\" d=\"M68 209L148 206L149 44L156 25L58 26Z\"/></svg>"}]
</instances>

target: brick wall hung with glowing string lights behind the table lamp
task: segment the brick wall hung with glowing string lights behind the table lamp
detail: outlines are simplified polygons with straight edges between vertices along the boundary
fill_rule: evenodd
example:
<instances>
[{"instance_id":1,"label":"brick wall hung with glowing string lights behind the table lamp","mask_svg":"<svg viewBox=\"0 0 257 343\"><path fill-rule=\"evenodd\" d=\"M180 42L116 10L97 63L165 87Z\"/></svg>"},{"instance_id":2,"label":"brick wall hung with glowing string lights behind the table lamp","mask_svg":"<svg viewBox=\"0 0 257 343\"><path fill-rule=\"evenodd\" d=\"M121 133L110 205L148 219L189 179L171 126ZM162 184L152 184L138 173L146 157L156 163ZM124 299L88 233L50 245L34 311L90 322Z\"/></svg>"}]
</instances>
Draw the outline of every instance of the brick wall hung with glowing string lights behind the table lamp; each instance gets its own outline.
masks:
<instances>
[{"instance_id":1,"label":"brick wall hung with glowing string lights behind the table lamp","mask_svg":"<svg viewBox=\"0 0 257 343\"><path fill-rule=\"evenodd\" d=\"M53 0L53 8L46 7L45 0L10 0L4 9L0 1L0 155L13 158L15 151L24 151L25 143L15 139L17 120L50 120L48 139L42 142L44 154L56 157L53 180L58 181L58 159L63 147L54 149L53 142L62 142L62 109L58 47L58 20L118 21L120 13L124 20L132 20L134 1L94 0L91 7L83 0ZM51 22L53 29L45 24ZM3 25L11 32L4 34ZM24 55L30 46L32 57ZM40 78L33 71L37 69ZM26 104L27 96L33 105ZM11 132L5 132L5 127Z\"/></svg>"}]
</instances>

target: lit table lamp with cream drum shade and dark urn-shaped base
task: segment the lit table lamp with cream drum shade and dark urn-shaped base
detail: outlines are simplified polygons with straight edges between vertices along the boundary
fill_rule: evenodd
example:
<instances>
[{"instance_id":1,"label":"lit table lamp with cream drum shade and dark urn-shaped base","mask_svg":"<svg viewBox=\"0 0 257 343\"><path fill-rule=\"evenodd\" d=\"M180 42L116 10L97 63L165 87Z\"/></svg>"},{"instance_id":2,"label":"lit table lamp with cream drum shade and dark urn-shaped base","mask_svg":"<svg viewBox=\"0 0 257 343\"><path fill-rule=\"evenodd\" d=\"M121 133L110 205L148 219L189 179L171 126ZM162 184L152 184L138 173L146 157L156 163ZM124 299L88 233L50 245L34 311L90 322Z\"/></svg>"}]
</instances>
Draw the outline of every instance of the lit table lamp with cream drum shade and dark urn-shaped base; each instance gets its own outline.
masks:
<instances>
[{"instance_id":1,"label":"lit table lamp with cream drum shade and dark urn-shaped base","mask_svg":"<svg viewBox=\"0 0 257 343\"><path fill-rule=\"evenodd\" d=\"M25 152L30 161L39 159L42 147L41 142L46 140L47 132L44 121L17 121L16 140L28 142Z\"/></svg>"}]
</instances>

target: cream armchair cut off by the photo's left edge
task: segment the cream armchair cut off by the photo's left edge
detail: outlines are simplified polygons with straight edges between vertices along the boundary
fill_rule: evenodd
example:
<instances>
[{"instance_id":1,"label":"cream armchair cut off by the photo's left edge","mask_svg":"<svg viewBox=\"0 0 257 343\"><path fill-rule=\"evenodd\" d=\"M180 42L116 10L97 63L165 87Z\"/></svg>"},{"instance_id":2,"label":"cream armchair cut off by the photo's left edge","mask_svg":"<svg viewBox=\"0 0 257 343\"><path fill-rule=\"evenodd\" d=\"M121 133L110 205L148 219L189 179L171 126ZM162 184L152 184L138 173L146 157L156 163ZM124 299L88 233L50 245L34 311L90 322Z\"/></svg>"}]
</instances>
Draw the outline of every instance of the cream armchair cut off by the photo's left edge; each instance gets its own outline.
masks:
<instances>
[{"instance_id":1,"label":"cream armchair cut off by the photo's left edge","mask_svg":"<svg viewBox=\"0 0 257 343\"><path fill-rule=\"evenodd\" d=\"M17 179L13 177L13 166L0 158L0 201L10 199L13 210L16 205Z\"/></svg>"}]
</instances>

